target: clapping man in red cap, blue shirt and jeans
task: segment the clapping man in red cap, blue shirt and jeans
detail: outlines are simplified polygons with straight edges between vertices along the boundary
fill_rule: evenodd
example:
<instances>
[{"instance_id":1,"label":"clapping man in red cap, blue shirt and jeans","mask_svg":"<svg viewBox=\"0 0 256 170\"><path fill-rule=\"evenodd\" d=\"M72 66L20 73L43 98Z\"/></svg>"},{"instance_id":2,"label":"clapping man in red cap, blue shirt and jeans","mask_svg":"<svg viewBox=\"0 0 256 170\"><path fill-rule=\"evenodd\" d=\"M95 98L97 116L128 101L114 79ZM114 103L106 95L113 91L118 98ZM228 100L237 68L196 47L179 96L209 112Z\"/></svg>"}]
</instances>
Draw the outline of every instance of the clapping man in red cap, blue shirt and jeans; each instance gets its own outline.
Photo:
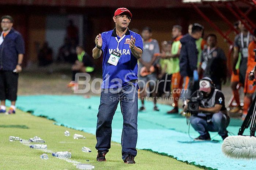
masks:
<instances>
[{"instance_id":1,"label":"clapping man in red cap, blue shirt and jeans","mask_svg":"<svg viewBox=\"0 0 256 170\"><path fill-rule=\"evenodd\" d=\"M135 163L137 155L138 59L143 53L143 42L139 34L128 29L131 17L127 8L118 8L113 16L114 30L98 34L95 38L93 58L97 59L103 53L103 82L95 147L98 150L97 161L106 161L105 155L111 143L111 124L119 101L124 119L122 159L124 163Z\"/></svg>"}]
</instances>

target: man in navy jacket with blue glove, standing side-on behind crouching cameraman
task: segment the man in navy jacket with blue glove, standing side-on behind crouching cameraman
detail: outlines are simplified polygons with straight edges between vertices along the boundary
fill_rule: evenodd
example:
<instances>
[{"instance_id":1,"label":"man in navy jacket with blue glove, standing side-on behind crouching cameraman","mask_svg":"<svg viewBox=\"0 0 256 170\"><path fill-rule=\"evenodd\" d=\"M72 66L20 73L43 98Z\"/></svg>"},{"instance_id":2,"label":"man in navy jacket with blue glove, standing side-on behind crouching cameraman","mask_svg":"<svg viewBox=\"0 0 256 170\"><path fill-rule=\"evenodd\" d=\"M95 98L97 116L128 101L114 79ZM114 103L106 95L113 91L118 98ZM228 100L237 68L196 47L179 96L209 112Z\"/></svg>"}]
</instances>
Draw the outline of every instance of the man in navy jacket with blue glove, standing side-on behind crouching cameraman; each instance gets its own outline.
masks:
<instances>
[{"instance_id":1,"label":"man in navy jacket with blue glove, standing side-on behind crouching cameraman","mask_svg":"<svg viewBox=\"0 0 256 170\"><path fill-rule=\"evenodd\" d=\"M193 92L194 81L198 81L197 49L195 41L202 37L203 26L193 24L191 35L186 34L181 39L180 74L183 77L181 97L185 100Z\"/></svg>"}]
</instances>

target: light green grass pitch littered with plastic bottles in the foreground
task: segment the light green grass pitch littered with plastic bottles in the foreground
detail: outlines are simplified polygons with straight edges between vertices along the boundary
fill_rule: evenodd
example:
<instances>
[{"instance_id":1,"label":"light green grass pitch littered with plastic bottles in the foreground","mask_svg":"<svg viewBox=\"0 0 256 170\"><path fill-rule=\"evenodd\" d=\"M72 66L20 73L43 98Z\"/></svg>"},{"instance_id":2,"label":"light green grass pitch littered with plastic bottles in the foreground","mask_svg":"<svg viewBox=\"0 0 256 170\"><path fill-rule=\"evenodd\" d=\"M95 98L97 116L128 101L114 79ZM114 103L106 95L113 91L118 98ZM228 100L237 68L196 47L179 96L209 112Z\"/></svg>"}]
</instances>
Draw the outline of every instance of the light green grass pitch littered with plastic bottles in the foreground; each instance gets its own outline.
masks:
<instances>
[{"instance_id":1,"label":"light green grass pitch littered with plastic bottles in the foreground","mask_svg":"<svg viewBox=\"0 0 256 170\"><path fill-rule=\"evenodd\" d=\"M64 116L64 115L63 115ZM95 125L96 126L96 125ZM68 130L70 136L64 132ZM74 140L75 133L84 135L86 139ZM95 150L96 138L63 126L54 125L54 121L35 117L29 113L17 110L16 114L0 114L0 170L76 170L76 166L65 160L57 159L42 150L31 149L19 141L9 141L9 136L18 136L28 140L39 136L46 141L47 149L53 152L69 151L71 160L88 163L95 170L199 170L199 167L159 155L146 150L138 150L135 165L126 165L121 159L121 145L112 142L112 147L106 155L107 162L97 162ZM89 147L92 152L82 152L82 147ZM48 160L41 160L40 155L46 153ZM87 161L89 160L89 161Z\"/></svg>"}]
</instances>

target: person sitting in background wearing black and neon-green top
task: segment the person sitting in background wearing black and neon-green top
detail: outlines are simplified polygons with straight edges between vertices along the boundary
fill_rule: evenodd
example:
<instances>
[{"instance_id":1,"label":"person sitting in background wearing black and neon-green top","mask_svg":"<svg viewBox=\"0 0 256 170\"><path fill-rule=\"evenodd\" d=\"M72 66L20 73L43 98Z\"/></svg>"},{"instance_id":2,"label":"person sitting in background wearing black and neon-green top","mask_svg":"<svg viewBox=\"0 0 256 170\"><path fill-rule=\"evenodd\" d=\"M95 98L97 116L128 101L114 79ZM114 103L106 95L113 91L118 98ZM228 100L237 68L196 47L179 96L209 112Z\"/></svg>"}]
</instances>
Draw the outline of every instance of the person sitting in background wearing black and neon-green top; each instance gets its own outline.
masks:
<instances>
[{"instance_id":1,"label":"person sitting in background wearing black and neon-green top","mask_svg":"<svg viewBox=\"0 0 256 170\"><path fill-rule=\"evenodd\" d=\"M74 86L76 73L91 73L94 71L94 65L91 61L91 56L84 51L82 46L76 47L77 60L72 65L72 82L69 83L69 87Z\"/></svg>"}]
</instances>

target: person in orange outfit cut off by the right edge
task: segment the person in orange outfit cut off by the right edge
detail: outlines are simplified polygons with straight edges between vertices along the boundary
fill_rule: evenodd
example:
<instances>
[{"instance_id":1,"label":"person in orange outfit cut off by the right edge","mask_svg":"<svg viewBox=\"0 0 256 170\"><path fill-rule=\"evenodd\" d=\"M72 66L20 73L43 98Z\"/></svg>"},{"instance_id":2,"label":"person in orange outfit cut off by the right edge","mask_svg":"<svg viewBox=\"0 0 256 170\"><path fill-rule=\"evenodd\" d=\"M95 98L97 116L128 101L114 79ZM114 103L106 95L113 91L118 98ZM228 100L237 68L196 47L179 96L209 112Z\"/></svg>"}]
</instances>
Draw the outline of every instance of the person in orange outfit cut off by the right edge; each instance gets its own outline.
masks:
<instances>
[{"instance_id":1,"label":"person in orange outfit cut off by the right edge","mask_svg":"<svg viewBox=\"0 0 256 170\"><path fill-rule=\"evenodd\" d=\"M249 106L252 102L252 95L255 92L256 86L253 86L253 80L249 80L248 76L252 69L255 67L255 52L253 50L256 49L256 29L253 32L253 41L250 42L248 46L248 59L247 59L247 69L245 75L245 83L244 83L244 102L248 103L244 105L244 116L246 116ZM243 117L244 117L243 116Z\"/></svg>"}]
</instances>

